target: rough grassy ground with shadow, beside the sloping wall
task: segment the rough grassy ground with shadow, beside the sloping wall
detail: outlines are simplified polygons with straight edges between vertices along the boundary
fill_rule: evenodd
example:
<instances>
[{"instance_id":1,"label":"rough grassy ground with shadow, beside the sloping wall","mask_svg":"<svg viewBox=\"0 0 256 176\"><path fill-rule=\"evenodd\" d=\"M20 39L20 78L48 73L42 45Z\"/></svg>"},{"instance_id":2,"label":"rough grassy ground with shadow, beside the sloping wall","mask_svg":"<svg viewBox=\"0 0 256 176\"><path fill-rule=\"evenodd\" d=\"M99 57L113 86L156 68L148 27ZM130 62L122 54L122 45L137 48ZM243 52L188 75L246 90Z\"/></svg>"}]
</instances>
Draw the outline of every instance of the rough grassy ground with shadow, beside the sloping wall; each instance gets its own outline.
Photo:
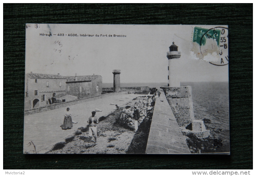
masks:
<instances>
[{"instance_id":1,"label":"rough grassy ground with shadow, beside the sloping wall","mask_svg":"<svg viewBox=\"0 0 256 176\"><path fill-rule=\"evenodd\" d=\"M144 98L137 97L129 102L129 105L134 105ZM151 119L144 119L138 124L138 131L135 133L128 126L120 126L116 122L123 109L124 107L120 107L107 117L99 118L97 145L94 143L94 138L92 138L93 142L89 143L88 127L86 127L76 130L74 135L55 144L47 154L145 154Z\"/></svg>"}]
</instances>

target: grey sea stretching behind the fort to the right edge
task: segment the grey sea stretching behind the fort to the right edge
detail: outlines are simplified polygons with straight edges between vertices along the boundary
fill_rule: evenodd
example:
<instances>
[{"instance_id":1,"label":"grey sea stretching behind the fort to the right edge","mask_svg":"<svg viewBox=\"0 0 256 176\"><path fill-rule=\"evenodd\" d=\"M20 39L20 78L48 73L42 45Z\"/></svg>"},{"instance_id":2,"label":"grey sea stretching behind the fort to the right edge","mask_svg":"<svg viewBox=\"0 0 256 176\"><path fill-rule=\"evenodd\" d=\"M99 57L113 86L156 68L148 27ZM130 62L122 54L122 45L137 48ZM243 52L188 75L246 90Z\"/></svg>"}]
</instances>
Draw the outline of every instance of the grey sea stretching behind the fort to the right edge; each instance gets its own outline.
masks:
<instances>
[{"instance_id":1,"label":"grey sea stretching behind the fort to the right edge","mask_svg":"<svg viewBox=\"0 0 256 176\"><path fill-rule=\"evenodd\" d=\"M121 87L160 87L158 83L121 83ZM181 86L192 87L194 116L196 120L210 119L205 123L216 129L215 138L222 140L222 152L230 151L229 140L229 84L228 82L181 82ZM102 87L113 87L113 83L103 83Z\"/></svg>"}]
</instances>

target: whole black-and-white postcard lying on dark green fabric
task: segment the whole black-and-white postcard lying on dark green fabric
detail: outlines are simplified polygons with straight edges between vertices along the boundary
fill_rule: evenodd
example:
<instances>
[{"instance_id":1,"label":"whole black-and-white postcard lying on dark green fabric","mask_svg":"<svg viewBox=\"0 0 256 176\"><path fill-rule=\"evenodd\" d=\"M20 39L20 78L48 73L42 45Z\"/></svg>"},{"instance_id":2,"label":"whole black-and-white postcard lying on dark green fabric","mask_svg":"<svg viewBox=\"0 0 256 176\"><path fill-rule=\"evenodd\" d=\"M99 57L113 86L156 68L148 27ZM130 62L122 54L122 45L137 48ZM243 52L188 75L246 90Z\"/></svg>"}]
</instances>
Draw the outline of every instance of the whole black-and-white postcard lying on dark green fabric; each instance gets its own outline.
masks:
<instances>
[{"instance_id":1,"label":"whole black-and-white postcard lying on dark green fabric","mask_svg":"<svg viewBox=\"0 0 256 176\"><path fill-rule=\"evenodd\" d=\"M25 28L24 154L230 154L227 26Z\"/></svg>"}]
</instances>

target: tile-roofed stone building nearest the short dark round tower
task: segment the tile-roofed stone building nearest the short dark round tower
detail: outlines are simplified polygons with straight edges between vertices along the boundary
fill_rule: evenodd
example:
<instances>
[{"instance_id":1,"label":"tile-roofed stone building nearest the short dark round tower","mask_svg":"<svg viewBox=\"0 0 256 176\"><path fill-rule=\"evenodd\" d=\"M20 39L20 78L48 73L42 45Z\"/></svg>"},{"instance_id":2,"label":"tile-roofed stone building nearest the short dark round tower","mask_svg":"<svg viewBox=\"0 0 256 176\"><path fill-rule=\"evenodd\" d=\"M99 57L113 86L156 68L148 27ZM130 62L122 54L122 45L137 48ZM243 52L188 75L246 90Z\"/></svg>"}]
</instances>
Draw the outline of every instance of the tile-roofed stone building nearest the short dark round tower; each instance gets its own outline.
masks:
<instances>
[{"instance_id":1,"label":"tile-roofed stone building nearest the short dark round tower","mask_svg":"<svg viewBox=\"0 0 256 176\"><path fill-rule=\"evenodd\" d=\"M102 77L100 75L69 76L66 78L66 91L68 95L79 98L101 95Z\"/></svg>"}]
</instances>

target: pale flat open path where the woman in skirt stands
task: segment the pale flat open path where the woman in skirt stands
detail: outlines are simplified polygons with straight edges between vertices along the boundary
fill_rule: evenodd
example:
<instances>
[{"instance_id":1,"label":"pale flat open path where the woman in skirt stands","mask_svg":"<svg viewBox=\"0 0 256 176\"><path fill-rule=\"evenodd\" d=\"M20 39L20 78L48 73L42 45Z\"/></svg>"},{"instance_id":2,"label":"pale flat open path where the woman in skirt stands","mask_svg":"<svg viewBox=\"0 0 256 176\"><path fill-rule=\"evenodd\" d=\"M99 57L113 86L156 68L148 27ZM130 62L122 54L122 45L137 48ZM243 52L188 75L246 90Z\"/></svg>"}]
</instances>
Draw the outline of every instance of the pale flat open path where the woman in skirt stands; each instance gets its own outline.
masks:
<instances>
[{"instance_id":1,"label":"pale flat open path where the woman in skirt stands","mask_svg":"<svg viewBox=\"0 0 256 176\"><path fill-rule=\"evenodd\" d=\"M34 147L30 144L33 143L37 153L43 154L51 150L54 144L64 141L67 136L72 135L78 127L85 127L87 125L87 119L91 116L91 111L95 110L95 108L102 110L102 112L96 113L97 117L107 116L111 111L116 109L115 105L110 105L111 103L122 106L138 96L143 95L117 94L68 106L72 113L72 120L78 123L73 124L73 128L67 130L62 130L60 127L63 124L64 112L67 107L25 116L24 151L30 151L31 153Z\"/></svg>"}]
</instances>

